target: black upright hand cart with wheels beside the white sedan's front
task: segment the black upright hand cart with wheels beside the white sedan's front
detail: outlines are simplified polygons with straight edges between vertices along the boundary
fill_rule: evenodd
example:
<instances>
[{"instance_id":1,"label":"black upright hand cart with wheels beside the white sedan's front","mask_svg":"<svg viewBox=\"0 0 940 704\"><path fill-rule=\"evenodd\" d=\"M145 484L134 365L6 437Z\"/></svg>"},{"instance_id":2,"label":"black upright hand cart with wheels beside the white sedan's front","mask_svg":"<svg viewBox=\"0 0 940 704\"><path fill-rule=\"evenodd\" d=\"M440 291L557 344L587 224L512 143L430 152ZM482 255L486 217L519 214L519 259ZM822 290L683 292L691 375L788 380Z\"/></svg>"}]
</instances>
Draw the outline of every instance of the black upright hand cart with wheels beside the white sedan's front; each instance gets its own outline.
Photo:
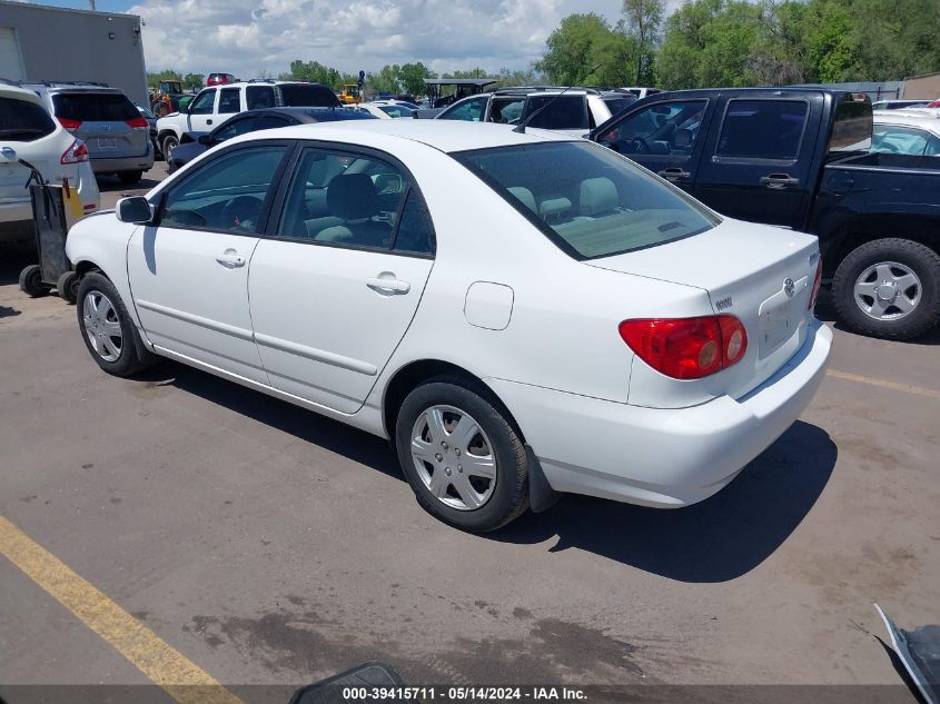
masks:
<instances>
[{"instance_id":1,"label":"black upright hand cart with wheels beside the white sedan's front","mask_svg":"<svg viewBox=\"0 0 940 704\"><path fill-rule=\"evenodd\" d=\"M27 185L32 201L36 248L39 255L39 264L31 264L20 271L20 289L36 298L46 296L55 288L60 298L75 304L78 298L79 278L72 270L71 261L66 257L66 237L69 226L77 218L66 204L68 201L71 206L79 202L78 191L69 190L67 184L49 184L34 166L22 159L19 162L32 171Z\"/></svg>"}]
</instances>

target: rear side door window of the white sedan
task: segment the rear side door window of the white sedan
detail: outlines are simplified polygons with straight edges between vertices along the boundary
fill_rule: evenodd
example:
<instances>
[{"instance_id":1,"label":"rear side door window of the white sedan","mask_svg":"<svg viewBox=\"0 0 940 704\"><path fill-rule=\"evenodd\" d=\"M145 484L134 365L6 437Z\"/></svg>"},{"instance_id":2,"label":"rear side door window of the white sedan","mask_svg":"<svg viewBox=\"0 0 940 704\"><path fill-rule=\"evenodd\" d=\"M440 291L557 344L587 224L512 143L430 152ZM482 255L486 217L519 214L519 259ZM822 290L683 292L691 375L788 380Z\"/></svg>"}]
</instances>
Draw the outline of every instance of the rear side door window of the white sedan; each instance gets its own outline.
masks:
<instances>
[{"instance_id":1,"label":"rear side door window of the white sedan","mask_svg":"<svg viewBox=\"0 0 940 704\"><path fill-rule=\"evenodd\" d=\"M399 168L372 156L316 148L300 158L277 235L415 254L431 254L434 238L420 195Z\"/></svg>"}]
</instances>

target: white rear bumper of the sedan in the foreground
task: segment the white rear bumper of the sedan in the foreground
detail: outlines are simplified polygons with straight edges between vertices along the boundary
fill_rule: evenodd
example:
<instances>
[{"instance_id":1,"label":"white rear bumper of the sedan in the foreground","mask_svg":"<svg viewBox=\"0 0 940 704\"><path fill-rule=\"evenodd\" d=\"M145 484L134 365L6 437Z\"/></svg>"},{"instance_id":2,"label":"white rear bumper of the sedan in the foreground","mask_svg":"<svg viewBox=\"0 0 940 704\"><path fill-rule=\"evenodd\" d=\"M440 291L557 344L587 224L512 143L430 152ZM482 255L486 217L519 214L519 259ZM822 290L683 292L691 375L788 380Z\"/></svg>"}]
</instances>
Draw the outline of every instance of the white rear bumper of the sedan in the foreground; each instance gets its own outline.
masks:
<instances>
[{"instance_id":1,"label":"white rear bumper of the sedan in the foreground","mask_svg":"<svg viewBox=\"0 0 940 704\"><path fill-rule=\"evenodd\" d=\"M746 396L682 409L629 406L486 379L513 410L557 492L676 508L726 486L809 405L832 330L818 320L800 350Z\"/></svg>"}]
</instances>

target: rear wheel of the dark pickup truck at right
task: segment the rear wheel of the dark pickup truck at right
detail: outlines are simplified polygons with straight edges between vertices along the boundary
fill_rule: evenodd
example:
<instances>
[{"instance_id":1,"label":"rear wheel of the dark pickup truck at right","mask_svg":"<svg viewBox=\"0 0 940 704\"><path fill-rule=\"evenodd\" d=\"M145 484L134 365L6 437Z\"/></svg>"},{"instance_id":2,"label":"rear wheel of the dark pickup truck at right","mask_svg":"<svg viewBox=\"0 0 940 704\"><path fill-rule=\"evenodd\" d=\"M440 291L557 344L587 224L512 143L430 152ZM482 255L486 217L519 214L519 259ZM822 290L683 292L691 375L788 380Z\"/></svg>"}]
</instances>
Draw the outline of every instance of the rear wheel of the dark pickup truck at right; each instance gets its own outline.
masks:
<instances>
[{"instance_id":1,"label":"rear wheel of the dark pickup truck at right","mask_svg":"<svg viewBox=\"0 0 940 704\"><path fill-rule=\"evenodd\" d=\"M849 328L885 339L923 335L940 320L940 256L909 239L853 249L835 270L832 295Z\"/></svg>"}]
</instances>

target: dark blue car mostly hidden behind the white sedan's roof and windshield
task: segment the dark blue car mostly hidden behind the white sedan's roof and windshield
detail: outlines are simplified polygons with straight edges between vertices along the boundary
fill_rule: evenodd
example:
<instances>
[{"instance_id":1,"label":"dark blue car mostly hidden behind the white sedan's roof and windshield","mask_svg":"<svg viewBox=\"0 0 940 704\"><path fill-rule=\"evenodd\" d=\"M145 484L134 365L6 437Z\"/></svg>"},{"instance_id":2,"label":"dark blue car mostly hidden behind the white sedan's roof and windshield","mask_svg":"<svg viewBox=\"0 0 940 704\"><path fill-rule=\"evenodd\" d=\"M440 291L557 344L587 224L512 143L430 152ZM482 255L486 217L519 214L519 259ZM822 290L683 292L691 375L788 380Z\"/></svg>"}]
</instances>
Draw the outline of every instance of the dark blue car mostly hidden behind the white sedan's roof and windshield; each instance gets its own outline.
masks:
<instances>
[{"instance_id":1,"label":"dark blue car mostly hidden behind the white sedan's roof and windshield","mask_svg":"<svg viewBox=\"0 0 940 704\"><path fill-rule=\"evenodd\" d=\"M247 132L290 125L372 119L375 119L372 115L344 108L271 108L239 112L208 135L184 135L182 143L175 147L167 159L167 172L172 173L207 149Z\"/></svg>"}]
</instances>

